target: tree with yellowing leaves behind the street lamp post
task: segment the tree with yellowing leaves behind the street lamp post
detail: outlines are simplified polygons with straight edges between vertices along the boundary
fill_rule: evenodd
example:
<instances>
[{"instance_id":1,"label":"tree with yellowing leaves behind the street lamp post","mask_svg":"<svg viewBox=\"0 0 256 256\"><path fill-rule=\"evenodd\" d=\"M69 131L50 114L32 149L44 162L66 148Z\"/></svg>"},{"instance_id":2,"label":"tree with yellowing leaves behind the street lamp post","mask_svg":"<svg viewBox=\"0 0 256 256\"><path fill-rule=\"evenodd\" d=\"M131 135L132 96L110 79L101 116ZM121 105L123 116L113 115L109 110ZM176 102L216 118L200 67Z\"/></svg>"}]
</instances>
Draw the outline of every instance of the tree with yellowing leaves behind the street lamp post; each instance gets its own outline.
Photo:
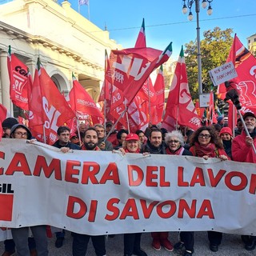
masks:
<instances>
[{"instance_id":1,"label":"tree with yellowing leaves behind the street lamp post","mask_svg":"<svg viewBox=\"0 0 256 256\"><path fill-rule=\"evenodd\" d=\"M232 29L221 30L218 26L214 30L206 30L201 40L202 56L202 91L210 92L212 82L209 70L221 66L226 62L233 42ZM186 71L190 86L190 94L193 99L198 98L198 60L197 42L190 41L186 45ZM215 89L217 90L217 88Z\"/></svg>"}]
</instances>

